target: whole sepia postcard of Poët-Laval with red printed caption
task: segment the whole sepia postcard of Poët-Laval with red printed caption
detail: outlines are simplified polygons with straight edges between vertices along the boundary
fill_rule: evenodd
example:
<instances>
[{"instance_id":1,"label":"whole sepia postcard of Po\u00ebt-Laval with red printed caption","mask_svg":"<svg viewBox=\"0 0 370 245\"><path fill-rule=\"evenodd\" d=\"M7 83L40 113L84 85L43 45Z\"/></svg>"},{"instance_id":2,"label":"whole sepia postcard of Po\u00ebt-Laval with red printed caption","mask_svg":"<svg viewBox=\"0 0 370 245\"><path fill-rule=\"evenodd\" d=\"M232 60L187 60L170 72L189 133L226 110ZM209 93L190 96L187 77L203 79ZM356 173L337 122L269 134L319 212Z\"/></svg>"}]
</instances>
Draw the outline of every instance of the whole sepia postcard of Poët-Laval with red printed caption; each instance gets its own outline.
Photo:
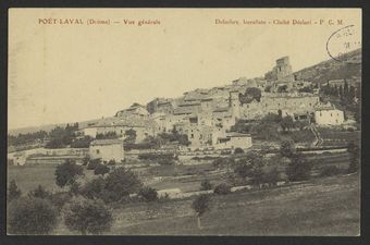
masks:
<instances>
[{"instance_id":1,"label":"whole sepia postcard of Po\u00ebt-Laval with red printed caption","mask_svg":"<svg viewBox=\"0 0 370 245\"><path fill-rule=\"evenodd\" d=\"M10 235L360 235L361 9L10 9Z\"/></svg>"}]
</instances>

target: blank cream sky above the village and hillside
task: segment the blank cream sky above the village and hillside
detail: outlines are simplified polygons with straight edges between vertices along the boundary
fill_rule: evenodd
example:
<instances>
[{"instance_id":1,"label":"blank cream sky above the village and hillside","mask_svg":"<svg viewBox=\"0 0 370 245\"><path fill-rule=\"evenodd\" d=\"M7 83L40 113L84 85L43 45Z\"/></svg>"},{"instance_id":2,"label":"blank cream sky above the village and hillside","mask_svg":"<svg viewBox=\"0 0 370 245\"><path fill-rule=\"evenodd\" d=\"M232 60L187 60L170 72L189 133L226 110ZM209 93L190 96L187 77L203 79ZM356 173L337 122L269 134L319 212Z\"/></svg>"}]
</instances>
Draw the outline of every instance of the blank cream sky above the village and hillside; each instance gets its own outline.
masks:
<instances>
[{"instance_id":1,"label":"blank cream sky above the village and hillside","mask_svg":"<svg viewBox=\"0 0 370 245\"><path fill-rule=\"evenodd\" d=\"M49 19L55 24L44 24ZM239 25L215 24L217 19ZM88 20L110 25L87 25ZM160 24L138 26L140 20ZM292 25L293 20L323 24ZM326 41L347 25L361 35L359 9L11 9L8 127L111 117L134 102L262 76L284 56L298 71L331 59Z\"/></svg>"}]
</instances>

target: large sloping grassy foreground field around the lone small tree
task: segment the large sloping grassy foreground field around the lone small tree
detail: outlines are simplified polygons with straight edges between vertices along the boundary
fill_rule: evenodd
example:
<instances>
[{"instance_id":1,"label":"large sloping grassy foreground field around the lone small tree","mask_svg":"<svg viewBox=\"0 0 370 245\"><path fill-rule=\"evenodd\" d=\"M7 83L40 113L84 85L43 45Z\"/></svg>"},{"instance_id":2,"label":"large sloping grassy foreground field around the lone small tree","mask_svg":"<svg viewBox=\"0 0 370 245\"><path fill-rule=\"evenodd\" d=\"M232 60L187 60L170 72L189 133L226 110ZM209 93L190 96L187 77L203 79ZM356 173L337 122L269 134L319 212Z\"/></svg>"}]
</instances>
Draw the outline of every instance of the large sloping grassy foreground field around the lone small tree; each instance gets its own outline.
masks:
<instances>
[{"instance_id":1,"label":"large sloping grassy foreground field around the lone small tree","mask_svg":"<svg viewBox=\"0 0 370 245\"><path fill-rule=\"evenodd\" d=\"M115 211L110 234L358 235L357 175L316 179L306 184L212 196L211 210L196 226L192 199Z\"/></svg>"}]
</instances>

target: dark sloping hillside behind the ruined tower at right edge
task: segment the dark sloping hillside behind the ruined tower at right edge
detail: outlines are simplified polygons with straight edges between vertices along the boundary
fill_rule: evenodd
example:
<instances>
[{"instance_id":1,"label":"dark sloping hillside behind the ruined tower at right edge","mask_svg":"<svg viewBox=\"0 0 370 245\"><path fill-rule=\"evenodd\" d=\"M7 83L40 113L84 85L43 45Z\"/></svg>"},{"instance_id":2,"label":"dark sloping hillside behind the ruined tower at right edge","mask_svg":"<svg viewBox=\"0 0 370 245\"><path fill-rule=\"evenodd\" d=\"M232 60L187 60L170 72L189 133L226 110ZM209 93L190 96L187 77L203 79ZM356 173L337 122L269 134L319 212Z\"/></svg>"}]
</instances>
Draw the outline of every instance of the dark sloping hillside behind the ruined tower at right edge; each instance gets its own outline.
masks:
<instances>
[{"instance_id":1,"label":"dark sloping hillside behind the ruined tower at right edge","mask_svg":"<svg viewBox=\"0 0 370 245\"><path fill-rule=\"evenodd\" d=\"M329 79L341 79L361 77L361 49L344 54L343 60L349 62L340 62L333 59L320 62L310 68L295 72L297 79L310 81L312 83L326 83Z\"/></svg>"}]
</instances>

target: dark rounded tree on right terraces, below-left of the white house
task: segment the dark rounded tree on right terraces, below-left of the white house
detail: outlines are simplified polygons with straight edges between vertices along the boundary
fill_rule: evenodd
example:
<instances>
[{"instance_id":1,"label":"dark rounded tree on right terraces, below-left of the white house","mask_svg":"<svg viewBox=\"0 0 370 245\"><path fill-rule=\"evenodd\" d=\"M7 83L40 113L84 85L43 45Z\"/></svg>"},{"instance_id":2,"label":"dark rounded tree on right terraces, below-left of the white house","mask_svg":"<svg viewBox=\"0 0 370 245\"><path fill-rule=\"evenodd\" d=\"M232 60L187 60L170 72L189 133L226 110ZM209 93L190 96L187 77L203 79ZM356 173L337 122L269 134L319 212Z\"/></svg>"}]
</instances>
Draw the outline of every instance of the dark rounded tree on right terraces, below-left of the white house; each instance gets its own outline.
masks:
<instances>
[{"instance_id":1,"label":"dark rounded tree on right terraces, below-left of the white house","mask_svg":"<svg viewBox=\"0 0 370 245\"><path fill-rule=\"evenodd\" d=\"M286 175L289 181L305 181L310 177L311 168L301 154L295 154L287 166Z\"/></svg>"}]
</instances>

